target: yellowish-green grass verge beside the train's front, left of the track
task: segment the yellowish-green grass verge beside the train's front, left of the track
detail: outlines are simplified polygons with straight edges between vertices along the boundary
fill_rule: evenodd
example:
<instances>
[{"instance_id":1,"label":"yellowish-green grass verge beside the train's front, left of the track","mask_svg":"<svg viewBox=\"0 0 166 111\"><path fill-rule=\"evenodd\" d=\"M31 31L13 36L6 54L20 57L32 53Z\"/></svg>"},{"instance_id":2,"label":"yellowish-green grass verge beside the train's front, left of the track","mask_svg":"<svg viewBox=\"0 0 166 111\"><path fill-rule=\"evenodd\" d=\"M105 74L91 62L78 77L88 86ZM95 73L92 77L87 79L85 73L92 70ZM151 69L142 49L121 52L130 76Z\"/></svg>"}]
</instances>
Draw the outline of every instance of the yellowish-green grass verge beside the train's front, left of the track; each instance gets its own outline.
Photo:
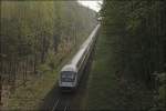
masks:
<instances>
[{"instance_id":1,"label":"yellowish-green grass verge beside the train's front, left of the track","mask_svg":"<svg viewBox=\"0 0 166 111\"><path fill-rule=\"evenodd\" d=\"M27 82L25 85L18 88L14 93L11 93L8 108L10 110L37 110L43 102L44 97L55 85L61 68L72 58L76 52L73 50L65 57L62 62L54 70L48 70L44 74L34 78Z\"/></svg>"}]
</instances>

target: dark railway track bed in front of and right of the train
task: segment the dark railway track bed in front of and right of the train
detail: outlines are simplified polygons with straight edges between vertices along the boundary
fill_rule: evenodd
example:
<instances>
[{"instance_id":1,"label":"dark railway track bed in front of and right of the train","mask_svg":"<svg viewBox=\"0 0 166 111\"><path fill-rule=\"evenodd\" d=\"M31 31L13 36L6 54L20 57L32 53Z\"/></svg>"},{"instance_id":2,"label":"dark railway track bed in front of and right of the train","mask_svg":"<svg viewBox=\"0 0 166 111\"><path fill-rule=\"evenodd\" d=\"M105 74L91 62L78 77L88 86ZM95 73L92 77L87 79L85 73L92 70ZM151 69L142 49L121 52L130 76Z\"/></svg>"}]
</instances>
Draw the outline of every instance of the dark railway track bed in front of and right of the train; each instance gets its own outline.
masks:
<instances>
[{"instance_id":1,"label":"dark railway track bed in front of and right of the train","mask_svg":"<svg viewBox=\"0 0 166 111\"><path fill-rule=\"evenodd\" d=\"M84 74L82 77L81 83L76 92L74 93L61 93L59 91L58 84L48 93L48 97L44 100L43 105L41 107L42 111L80 111L80 101L85 94L86 81L89 80L89 73L91 70L91 63L93 61L93 56L95 51L93 50L92 54L89 58L86 67L84 69ZM77 101L79 100L79 101Z\"/></svg>"}]
</instances>

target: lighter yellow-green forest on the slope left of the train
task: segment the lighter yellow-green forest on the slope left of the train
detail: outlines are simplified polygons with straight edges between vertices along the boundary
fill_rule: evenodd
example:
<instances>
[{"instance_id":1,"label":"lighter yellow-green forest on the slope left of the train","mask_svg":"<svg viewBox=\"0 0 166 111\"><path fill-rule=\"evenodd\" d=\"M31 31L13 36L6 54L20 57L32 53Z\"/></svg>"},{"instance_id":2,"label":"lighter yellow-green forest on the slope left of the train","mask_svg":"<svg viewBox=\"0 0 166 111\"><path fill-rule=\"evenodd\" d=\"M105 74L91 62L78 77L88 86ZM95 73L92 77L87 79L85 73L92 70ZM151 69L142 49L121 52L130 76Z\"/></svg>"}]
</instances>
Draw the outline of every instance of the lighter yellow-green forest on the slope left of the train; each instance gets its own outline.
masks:
<instances>
[{"instance_id":1,"label":"lighter yellow-green forest on the slope left of the train","mask_svg":"<svg viewBox=\"0 0 166 111\"><path fill-rule=\"evenodd\" d=\"M13 93L56 70L89 36L95 17L76 1L1 1L1 97L7 85Z\"/></svg>"}]
</instances>

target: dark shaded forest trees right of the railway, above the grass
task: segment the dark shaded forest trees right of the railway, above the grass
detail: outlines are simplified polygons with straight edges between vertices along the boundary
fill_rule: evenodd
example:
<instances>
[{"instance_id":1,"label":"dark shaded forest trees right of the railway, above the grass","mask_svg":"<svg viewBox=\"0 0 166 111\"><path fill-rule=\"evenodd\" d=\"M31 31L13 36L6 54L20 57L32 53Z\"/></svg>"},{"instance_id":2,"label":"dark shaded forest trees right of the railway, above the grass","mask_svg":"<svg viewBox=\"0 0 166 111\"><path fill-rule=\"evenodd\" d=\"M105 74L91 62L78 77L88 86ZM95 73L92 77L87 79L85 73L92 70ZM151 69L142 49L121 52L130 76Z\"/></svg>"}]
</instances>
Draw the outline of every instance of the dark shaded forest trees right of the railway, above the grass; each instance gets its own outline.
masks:
<instances>
[{"instance_id":1,"label":"dark shaded forest trees right of the railway, above the grass","mask_svg":"<svg viewBox=\"0 0 166 111\"><path fill-rule=\"evenodd\" d=\"M134 77L135 80L153 89L155 108L164 110L166 103L166 2L104 0L101 17L103 18L102 32L110 46L107 51L111 51L116 60L115 73L118 77Z\"/></svg>"}]
</instances>

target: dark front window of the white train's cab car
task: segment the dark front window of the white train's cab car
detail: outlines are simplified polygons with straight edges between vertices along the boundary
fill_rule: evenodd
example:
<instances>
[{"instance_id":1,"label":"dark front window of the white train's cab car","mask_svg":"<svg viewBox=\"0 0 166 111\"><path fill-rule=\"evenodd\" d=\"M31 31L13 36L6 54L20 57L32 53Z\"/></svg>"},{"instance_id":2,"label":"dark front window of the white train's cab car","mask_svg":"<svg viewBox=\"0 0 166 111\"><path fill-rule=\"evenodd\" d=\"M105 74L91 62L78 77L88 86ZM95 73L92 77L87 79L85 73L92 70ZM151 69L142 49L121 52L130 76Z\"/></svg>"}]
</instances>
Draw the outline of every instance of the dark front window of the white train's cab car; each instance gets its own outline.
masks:
<instances>
[{"instance_id":1,"label":"dark front window of the white train's cab car","mask_svg":"<svg viewBox=\"0 0 166 111\"><path fill-rule=\"evenodd\" d=\"M73 82L75 79L75 73L70 71L64 71L61 73L61 80L63 82Z\"/></svg>"}]
</instances>

